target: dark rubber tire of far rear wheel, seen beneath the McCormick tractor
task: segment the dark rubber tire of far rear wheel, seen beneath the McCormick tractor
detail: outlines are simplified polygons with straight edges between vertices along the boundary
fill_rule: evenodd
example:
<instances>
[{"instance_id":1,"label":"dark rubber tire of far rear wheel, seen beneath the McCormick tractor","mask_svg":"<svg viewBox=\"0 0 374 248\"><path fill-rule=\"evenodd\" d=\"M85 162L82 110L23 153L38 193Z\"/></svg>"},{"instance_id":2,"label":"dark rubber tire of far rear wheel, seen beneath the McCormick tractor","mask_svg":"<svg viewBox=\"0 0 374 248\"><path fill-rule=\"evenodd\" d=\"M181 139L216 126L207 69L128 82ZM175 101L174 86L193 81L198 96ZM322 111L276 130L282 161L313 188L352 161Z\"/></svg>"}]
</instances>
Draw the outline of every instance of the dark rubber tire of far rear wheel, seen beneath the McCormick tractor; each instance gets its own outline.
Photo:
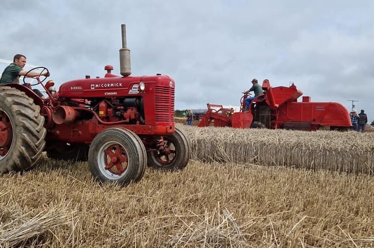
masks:
<instances>
[{"instance_id":1,"label":"dark rubber tire of far rear wheel, seen beneath the McCormick tractor","mask_svg":"<svg viewBox=\"0 0 374 248\"><path fill-rule=\"evenodd\" d=\"M48 147L48 143L46 145ZM69 150L46 149L47 157L64 161L86 162L90 146L87 144L72 144Z\"/></svg>"}]
</instances>

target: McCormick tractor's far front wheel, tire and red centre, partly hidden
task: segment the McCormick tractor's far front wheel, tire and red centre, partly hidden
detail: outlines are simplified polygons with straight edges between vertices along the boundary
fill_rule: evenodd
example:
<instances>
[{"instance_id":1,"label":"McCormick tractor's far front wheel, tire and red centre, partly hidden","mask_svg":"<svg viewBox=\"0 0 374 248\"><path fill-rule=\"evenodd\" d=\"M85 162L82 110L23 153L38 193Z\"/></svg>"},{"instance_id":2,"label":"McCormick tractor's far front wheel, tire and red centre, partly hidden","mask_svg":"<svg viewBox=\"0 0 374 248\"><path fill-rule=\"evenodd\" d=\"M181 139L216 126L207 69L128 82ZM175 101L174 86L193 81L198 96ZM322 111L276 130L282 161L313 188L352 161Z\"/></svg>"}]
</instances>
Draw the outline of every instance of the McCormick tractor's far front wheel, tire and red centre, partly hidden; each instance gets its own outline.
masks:
<instances>
[{"instance_id":1,"label":"McCormick tractor's far front wheel, tire and red centre, partly hidden","mask_svg":"<svg viewBox=\"0 0 374 248\"><path fill-rule=\"evenodd\" d=\"M162 150L148 152L148 166L165 170L182 170L189 160L189 143L179 129L172 135L164 136Z\"/></svg>"}]
</instances>

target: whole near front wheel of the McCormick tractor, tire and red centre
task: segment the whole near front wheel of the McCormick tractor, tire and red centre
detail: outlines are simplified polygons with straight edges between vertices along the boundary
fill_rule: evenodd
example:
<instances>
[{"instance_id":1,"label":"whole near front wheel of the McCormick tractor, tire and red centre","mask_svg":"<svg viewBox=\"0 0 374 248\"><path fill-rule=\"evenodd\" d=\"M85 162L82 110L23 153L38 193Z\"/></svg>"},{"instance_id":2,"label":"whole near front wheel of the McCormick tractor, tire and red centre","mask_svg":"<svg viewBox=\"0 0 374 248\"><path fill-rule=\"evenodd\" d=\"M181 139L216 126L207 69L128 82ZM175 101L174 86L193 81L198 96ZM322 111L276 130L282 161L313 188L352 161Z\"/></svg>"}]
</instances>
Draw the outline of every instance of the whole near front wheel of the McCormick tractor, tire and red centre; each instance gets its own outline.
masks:
<instances>
[{"instance_id":1,"label":"whole near front wheel of the McCormick tractor, tire and red centre","mask_svg":"<svg viewBox=\"0 0 374 248\"><path fill-rule=\"evenodd\" d=\"M147 156L143 142L134 132L113 127L94 137L88 162L95 179L125 186L143 177Z\"/></svg>"}]
</instances>

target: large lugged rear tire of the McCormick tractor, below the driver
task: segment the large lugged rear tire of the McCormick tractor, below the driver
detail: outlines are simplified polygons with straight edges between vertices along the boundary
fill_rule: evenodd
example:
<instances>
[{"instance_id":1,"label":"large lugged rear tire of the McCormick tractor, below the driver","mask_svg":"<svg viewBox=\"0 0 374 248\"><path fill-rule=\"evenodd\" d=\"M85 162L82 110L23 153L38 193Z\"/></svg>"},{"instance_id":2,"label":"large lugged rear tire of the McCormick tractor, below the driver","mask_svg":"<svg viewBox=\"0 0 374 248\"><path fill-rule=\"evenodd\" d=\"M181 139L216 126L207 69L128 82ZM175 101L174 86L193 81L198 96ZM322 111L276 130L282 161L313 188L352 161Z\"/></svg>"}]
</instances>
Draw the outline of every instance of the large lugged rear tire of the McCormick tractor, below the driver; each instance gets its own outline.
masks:
<instances>
[{"instance_id":1,"label":"large lugged rear tire of the McCormick tractor, below the driver","mask_svg":"<svg viewBox=\"0 0 374 248\"><path fill-rule=\"evenodd\" d=\"M45 146L44 117L40 107L20 90L1 86L0 109L13 125L13 140L8 153L0 158L0 172L32 169Z\"/></svg>"}]
</instances>

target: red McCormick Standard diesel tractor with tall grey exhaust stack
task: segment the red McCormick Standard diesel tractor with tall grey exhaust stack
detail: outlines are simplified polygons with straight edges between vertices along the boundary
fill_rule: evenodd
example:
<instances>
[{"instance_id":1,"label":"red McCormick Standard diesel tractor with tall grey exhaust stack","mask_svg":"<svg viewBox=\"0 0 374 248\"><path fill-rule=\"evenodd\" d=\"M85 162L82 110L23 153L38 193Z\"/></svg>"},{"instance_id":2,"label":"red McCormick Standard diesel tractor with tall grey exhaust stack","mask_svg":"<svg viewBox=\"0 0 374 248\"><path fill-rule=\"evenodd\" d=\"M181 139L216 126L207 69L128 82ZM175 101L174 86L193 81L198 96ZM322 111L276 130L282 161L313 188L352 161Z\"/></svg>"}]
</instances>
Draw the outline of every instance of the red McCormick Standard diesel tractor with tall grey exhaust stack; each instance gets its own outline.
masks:
<instances>
[{"instance_id":1,"label":"red McCormick Standard diesel tractor with tall grey exhaust stack","mask_svg":"<svg viewBox=\"0 0 374 248\"><path fill-rule=\"evenodd\" d=\"M65 82L58 91L39 76L34 85L42 85L46 98L25 82L27 74L24 85L0 87L0 172L32 168L43 151L53 159L88 161L95 179L121 185L139 181L147 165L186 167L189 144L174 125L175 82L161 74L130 76L121 28L121 76L106 65L104 77Z\"/></svg>"}]
</instances>

